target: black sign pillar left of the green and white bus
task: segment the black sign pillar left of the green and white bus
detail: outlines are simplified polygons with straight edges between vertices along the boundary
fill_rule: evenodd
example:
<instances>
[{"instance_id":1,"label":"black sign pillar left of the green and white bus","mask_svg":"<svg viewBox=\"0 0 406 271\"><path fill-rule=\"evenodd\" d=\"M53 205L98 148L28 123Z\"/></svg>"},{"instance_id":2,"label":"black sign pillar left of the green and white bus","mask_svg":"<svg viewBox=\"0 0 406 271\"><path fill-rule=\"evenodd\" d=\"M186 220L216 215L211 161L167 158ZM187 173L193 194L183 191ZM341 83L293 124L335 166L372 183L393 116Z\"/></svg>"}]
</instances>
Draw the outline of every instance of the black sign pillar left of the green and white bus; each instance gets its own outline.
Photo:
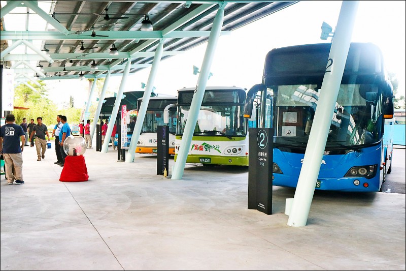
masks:
<instances>
[{"instance_id":1,"label":"black sign pillar left of the green and white bus","mask_svg":"<svg viewBox=\"0 0 406 271\"><path fill-rule=\"evenodd\" d=\"M169 135L168 135L168 126L164 125L158 126L157 130L157 157L156 157L156 174L164 175L165 170L166 175L168 174L168 161L169 161Z\"/></svg>"}]
</instances>

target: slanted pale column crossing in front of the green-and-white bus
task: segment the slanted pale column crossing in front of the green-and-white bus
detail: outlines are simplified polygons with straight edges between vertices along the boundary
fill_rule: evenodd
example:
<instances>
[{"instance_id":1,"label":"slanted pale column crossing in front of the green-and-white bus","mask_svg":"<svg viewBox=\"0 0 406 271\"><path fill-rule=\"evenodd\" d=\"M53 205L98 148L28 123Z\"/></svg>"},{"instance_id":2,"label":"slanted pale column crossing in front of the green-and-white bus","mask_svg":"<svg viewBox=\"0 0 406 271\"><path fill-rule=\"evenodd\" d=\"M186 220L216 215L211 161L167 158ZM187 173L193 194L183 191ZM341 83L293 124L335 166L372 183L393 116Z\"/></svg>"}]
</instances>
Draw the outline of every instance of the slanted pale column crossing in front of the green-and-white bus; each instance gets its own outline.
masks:
<instances>
[{"instance_id":1,"label":"slanted pale column crossing in front of the green-and-white bus","mask_svg":"<svg viewBox=\"0 0 406 271\"><path fill-rule=\"evenodd\" d=\"M217 11L216 17L214 17L212 30L210 32L209 41L207 43L205 57L203 59L203 63L201 64L201 71L199 73L199 78L197 79L197 85L195 93L193 95L192 103L190 104L189 115L187 117L185 130L183 131L182 141L179 147L179 152L171 179L181 179L183 176L186 158L190 149L190 144L192 143L194 127L197 122L197 116L199 114L201 101L203 100L203 97L205 95L210 68L213 62L214 53L216 51L221 27L223 26L225 6L226 3L219 3L219 10Z\"/></svg>"}]
</instances>

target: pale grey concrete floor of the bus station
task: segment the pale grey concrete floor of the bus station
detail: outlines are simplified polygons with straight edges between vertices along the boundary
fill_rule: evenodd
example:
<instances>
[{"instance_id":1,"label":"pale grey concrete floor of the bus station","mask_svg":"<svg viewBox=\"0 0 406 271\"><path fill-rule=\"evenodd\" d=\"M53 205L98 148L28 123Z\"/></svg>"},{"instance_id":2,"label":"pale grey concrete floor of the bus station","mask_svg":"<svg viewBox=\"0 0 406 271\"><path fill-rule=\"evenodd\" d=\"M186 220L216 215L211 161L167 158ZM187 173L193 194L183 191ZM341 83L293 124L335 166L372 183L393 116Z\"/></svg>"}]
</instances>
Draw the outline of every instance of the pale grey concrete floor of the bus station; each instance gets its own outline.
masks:
<instances>
[{"instance_id":1,"label":"pale grey concrete floor of the bus station","mask_svg":"<svg viewBox=\"0 0 406 271\"><path fill-rule=\"evenodd\" d=\"M289 227L294 190L274 187L273 215L247 209L247 168L171 180L154 155L93 148L88 182L68 183L53 147L41 162L24 149L24 185L1 176L1 270L405 270L405 194L316 191Z\"/></svg>"}]
</instances>

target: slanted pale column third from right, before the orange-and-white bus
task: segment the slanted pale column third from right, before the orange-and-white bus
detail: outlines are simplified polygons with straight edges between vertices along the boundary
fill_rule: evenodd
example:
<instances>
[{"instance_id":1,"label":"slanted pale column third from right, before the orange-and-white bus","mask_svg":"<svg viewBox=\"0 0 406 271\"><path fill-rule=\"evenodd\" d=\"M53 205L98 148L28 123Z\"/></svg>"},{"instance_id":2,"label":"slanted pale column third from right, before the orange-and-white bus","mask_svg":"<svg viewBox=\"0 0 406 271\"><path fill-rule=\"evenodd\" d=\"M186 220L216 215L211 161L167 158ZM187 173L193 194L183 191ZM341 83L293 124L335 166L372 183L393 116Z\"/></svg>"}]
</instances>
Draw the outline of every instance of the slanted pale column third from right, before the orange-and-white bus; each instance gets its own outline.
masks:
<instances>
[{"instance_id":1,"label":"slanted pale column third from right, before the orange-and-white bus","mask_svg":"<svg viewBox=\"0 0 406 271\"><path fill-rule=\"evenodd\" d=\"M136 154L136 147L138 139L140 138L141 128L144 123L145 114L147 113L147 107L149 103L149 98L152 93L152 86L155 81L156 73L158 72L159 63L161 61L163 52L163 40L161 39L158 47L155 51L154 60L152 61L151 71L148 76L147 87L144 91L143 101L141 103L140 109L138 110L137 122L134 130L132 131L131 142L128 148L128 154L125 156L126 163L132 163L134 161L134 156Z\"/></svg>"}]
</instances>

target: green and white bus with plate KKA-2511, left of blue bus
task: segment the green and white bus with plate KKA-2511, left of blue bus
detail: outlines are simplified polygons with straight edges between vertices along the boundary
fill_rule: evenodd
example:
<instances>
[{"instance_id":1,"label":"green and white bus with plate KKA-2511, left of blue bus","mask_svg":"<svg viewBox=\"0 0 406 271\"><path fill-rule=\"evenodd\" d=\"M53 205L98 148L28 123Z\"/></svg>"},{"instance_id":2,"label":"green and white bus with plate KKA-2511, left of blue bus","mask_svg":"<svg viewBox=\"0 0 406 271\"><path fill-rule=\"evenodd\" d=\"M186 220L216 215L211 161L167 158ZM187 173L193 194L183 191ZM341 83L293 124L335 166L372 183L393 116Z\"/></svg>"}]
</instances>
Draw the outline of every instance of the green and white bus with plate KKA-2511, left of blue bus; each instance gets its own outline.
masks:
<instances>
[{"instance_id":1,"label":"green and white bus with plate KKA-2511, left of blue bus","mask_svg":"<svg viewBox=\"0 0 406 271\"><path fill-rule=\"evenodd\" d=\"M175 161L195 88L178 90ZM248 121L244 118L246 89L206 87L186 163L248 166Z\"/></svg>"}]
</instances>

